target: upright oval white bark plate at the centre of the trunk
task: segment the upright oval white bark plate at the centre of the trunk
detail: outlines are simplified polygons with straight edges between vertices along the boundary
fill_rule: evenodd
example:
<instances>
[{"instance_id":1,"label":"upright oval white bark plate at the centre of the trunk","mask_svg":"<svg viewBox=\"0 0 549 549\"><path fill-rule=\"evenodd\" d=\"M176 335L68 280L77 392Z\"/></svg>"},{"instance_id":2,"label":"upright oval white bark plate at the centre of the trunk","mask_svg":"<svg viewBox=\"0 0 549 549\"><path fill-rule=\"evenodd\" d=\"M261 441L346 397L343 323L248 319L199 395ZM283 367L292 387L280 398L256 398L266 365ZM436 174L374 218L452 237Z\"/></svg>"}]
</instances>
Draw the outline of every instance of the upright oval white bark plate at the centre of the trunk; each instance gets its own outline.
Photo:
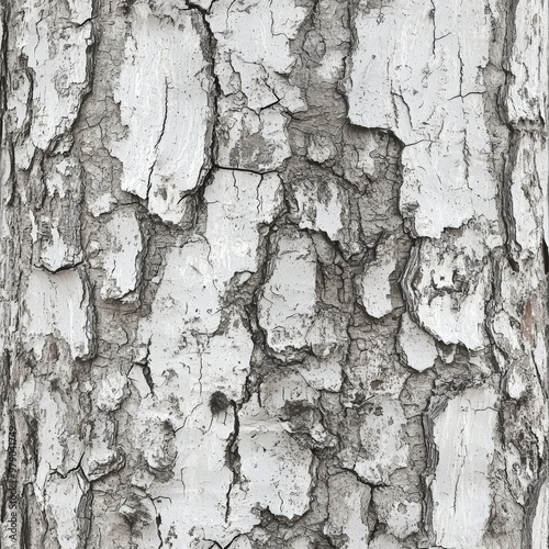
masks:
<instances>
[{"instance_id":1,"label":"upright oval white bark plate at the centre of the trunk","mask_svg":"<svg viewBox=\"0 0 549 549\"><path fill-rule=\"evenodd\" d=\"M316 304L316 251L312 239L280 231L258 302L258 320L277 354L306 346Z\"/></svg>"}]
</instances>

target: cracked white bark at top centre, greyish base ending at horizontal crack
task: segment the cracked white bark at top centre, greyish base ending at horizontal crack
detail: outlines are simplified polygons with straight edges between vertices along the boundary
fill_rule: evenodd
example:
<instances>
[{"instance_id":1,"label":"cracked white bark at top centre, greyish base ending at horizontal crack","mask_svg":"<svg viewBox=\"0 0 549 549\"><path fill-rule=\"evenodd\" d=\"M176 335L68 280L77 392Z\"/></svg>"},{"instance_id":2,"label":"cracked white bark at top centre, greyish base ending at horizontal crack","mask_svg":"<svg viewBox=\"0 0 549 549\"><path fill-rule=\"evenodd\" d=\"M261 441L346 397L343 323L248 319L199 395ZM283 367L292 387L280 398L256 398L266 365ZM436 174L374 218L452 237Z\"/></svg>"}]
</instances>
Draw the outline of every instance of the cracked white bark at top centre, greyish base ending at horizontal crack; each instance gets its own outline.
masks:
<instances>
[{"instance_id":1,"label":"cracked white bark at top centre, greyish base ending at horizontal crack","mask_svg":"<svg viewBox=\"0 0 549 549\"><path fill-rule=\"evenodd\" d=\"M290 40L309 11L294 0L273 8L268 0L220 0L206 16L223 92L217 102L216 161L224 168L280 168L291 155L283 111L305 109L300 89L287 75L295 63Z\"/></svg>"}]
</instances>

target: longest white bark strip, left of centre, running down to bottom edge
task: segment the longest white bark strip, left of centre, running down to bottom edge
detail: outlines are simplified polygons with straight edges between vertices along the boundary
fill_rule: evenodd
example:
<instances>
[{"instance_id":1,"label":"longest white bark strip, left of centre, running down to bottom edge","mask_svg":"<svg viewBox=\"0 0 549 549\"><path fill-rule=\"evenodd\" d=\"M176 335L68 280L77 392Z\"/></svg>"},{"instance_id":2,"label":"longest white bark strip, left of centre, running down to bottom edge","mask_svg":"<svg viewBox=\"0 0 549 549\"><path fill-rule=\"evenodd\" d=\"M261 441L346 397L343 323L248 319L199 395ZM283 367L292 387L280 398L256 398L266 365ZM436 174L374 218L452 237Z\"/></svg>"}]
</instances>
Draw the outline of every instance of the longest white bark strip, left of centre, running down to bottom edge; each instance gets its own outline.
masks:
<instances>
[{"instance_id":1,"label":"longest white bark strip, left of centre, running down to bottom edge","mask_svg":"<svg viewBox=\"0 0 549 549\"><path fill-rule=\"evenodd\" d=\"M246 208L253 206L258 219L251 217L245 226L247 234L240 235L249 237L253 246L245 243L246 253L238 254L239 247L231 243L236 250L233 261L244 261L253 270L257 225L261 220L258 188L262 181L255 175L238 172L237 177L242 188L234 184L233 172L217 172L208 203L215 213L220 206L220 217L226 216L227 227L233 219L244 215ZM266 208L272 204L279 184L276 180L271 183L272 188L264 189ZM231 201L224 204L224 210L216 199L221 200L225 195L223 191L228 193L229 189L235 197L232 204ZM223 333L213 335L221 320L219 300L220 291L224 290L221 282L234 272L234 264L227 266L219 260L223 243L214 235L215 232L209 234L212 247L201 238L168 251L152 314L141 326L142 340L148 344L145 360L150 369L152 386L148 392L142 389L147 403L145 410L149 411L142 416L144 430L139 439L144 440L149 468L179 472L169 482L153 484L150 493L158 497L156 506L163 517L160 537L165 544L181 549L194 547L203 539L227 545L256 523L247 502L242 502L235 516L229 515L227 508L226 494L232 490L234 474L226 464L226 451L236 429L229 401L244 396L253 343L237 316L228 318ZM209 400L216 391L223 392L227 406L214 413ZM155 429L148 428L155 416L159 422L169 421L177 429L170 447L165 436L158 437ZM208 448L205 455L204 448ZM189 528L189 524L195 527Z\"/></svg>"}]
</instances>

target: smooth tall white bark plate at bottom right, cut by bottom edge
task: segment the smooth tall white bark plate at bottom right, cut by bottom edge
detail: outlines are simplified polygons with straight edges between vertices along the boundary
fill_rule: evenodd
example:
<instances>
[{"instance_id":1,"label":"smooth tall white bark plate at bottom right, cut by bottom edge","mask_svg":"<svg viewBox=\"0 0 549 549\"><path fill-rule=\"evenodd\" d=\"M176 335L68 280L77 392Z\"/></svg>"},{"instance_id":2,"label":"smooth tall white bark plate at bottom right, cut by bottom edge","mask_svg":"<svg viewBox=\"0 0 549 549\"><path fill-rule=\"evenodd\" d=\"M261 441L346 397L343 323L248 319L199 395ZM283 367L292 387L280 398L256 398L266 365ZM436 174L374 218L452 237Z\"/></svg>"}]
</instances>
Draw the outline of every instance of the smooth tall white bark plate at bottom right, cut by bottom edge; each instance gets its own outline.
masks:
<instances>
[{"instance_id":1,"label":"smooth tall white bark plate at bottom right, cut by bottom edge","mask_svg":"<svg viewBox=\"0 0 549 549\"><path fill-rule=\"evenodd\" d=\"M497 438L496 401L490 388L468 389L434 418L438 463L430 492L438 546L484 547L482 538L492 505L490 471Z\"/></svg>"}]
</instances>

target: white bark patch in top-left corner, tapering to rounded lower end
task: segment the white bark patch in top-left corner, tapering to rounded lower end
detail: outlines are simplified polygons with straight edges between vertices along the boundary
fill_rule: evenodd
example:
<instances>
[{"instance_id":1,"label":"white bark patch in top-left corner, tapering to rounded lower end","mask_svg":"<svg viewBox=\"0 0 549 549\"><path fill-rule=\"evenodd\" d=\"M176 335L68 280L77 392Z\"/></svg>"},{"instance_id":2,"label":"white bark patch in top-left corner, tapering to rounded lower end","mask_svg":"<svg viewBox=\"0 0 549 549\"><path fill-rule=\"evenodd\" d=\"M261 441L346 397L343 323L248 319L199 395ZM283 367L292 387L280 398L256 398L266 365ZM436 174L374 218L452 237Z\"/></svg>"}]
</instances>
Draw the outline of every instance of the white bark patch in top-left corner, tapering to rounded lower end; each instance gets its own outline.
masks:
<instances>
[{"instance_id":1,"label":"white bark patch in top-left corner, tapering to rounded lower end","mask_svg":"<svg viewBox=\"0 0 549 549\"><path fill-rule=\"evenodd\" d=\"M92 2L68 8L49 1L24 7L18 44L33 71L31 141L41 149L70 130L89 86Z\"/></svg>"}]
</instances>

